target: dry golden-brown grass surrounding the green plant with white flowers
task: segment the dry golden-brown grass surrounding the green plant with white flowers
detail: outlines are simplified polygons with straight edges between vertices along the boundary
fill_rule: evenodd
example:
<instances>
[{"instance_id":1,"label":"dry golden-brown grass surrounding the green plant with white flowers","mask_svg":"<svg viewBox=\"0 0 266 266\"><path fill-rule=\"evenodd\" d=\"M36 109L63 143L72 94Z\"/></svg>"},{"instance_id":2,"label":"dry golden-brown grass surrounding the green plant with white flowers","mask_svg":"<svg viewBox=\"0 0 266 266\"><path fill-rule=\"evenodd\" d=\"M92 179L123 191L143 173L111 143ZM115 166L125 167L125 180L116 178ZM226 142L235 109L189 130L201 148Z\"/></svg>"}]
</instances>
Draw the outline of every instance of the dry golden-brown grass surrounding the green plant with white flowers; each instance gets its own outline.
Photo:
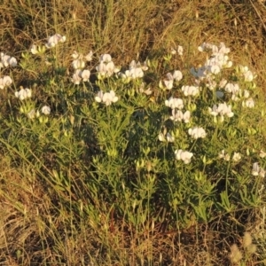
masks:
<instances>
[{"instance_id":1,"label":"dry golden-brown grass surrounding the green plant with white flowers","mask_svg":"<svg viewBox=\"0 0 266 266\"><path fill-rule=\"evenodd\" d=\"M180 44L190 66L200 63L193 54L200 43L224 42L266 90L266 5L259 1L136 0L132 7L114 0L3 0L0 18L0 51L19 56L59 32L67 36L66 62L74 50L93 50L125 65L138 53L159 57ZM25 76L18 73L18 80ZM230 246L246 230L257 244L246 265L266 265L265 209L186 231L168 231L164 223L136 230L115 221L108 206L91 207L93 217L71 213L34 169L11 161L0 160L0 265L229 265Z\"/></svg>"}]
</instances>

